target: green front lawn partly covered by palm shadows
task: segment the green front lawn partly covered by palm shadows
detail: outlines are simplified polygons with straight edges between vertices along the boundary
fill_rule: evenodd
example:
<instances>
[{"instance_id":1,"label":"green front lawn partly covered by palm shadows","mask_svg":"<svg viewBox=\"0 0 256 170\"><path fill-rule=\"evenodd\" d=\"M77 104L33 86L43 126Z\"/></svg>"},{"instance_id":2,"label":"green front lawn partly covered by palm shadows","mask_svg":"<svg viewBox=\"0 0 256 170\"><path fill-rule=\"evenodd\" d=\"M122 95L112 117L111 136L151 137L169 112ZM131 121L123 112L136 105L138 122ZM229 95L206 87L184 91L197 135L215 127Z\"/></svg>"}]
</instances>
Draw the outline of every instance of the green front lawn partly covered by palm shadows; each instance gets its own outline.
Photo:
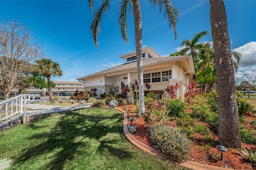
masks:
<instances>
[{"instance_id":1,"label":"green front lawn partly covered by palm shadows","mask_svg":"<svg viewBox=\"0 0 256 170\"><path fill-rule=\"evenodd\" d=\"M8 170L187 169L134 147L123 135L123 115L88 108L55 114L0 133L0 159Z\"/></svg>"}]
</instances>

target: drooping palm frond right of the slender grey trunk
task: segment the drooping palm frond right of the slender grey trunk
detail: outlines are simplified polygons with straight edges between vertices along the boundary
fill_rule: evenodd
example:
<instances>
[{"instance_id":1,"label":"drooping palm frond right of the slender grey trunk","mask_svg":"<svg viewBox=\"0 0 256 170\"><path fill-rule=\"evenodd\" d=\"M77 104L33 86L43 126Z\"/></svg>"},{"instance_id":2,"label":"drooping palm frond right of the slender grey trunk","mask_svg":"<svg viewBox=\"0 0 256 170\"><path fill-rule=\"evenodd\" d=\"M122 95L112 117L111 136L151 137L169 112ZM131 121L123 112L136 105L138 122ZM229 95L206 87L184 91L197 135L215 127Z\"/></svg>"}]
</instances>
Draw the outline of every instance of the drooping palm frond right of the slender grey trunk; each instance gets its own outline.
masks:
<instances>
[{"instance_id":1,"label":"drooping palm frond right of the slender grey trunk","mask_svg":"<svg viewBox=\"0 0 256 170\"><path fill-rule=\"evenodd\" d=\"M178 22L178 9L172 6L170 0L149 0L152 7L158 6L159 14L162 12L164 6L164 19L168 19L169 26L173 28L175 39L177 39L176 23Z\"/></svg>"}]
</instances>

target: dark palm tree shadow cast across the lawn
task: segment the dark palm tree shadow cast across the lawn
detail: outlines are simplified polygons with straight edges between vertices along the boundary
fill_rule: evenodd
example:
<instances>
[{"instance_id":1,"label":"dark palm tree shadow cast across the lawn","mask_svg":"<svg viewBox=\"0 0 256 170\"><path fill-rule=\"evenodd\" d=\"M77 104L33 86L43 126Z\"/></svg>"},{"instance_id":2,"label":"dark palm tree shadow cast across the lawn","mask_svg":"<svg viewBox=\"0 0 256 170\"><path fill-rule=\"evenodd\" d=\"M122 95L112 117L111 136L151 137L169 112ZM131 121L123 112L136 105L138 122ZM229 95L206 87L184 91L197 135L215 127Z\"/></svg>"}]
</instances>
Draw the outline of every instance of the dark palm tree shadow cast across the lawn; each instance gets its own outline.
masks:
<instances>
[{"instance_id":1,"label":"dark palm tree shadow cast across the lawn","mask_svg":"<svg viewBox=\"0 0 256 170\"><path fill-rule=\"evenodd\" d=\"M104 125L102 122L106 122L108 119L114 119L116 123ZM117 142L116 139L106 139L107 137L105 137L108 133L122 134L120 122L122 122L121 113L116 113L111 117L102 117L69 112L60 117L56 126L49 133L39 133L30 137L29 139L46 138L47 140L27 149L13 164L21 164L30 158L55 153L44 168L61 170L68 160L72 161L77 154L84 154L80 153L79 148L90 147L91 144L83 140L85 138L96 139L100 142L99 152L108 150L111 155L119 159L129 158L131 155L125 149L113 147L112 144ZM30 127L38 128L35 125ZM100 139L102 137L105 137L104 140ZM80 140L78 141L78 139Z\"/></svg>"}]
</instances>

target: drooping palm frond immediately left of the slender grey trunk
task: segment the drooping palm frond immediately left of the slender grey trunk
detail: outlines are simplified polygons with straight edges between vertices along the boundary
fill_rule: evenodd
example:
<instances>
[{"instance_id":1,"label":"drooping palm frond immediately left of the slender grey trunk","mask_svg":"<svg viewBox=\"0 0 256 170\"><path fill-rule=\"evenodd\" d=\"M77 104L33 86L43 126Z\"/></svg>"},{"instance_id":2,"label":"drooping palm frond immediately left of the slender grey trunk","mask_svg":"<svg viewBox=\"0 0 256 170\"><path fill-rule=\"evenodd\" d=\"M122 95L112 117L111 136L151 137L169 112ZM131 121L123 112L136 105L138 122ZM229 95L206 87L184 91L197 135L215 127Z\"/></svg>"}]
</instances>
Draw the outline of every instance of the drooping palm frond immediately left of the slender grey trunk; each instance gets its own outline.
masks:
<instances>
[{"instance_id":1,"label":"drooping palm frond immediately left of the slender grey trunk","mask_svg":"<svg viewBox=\"0 0 256 170\"><path fill-rule=\"evenodd\" d=\"M121 0L120 4L120 12L118 17L118 23L120 25L120 30L122 33L122 37L126 43L128 43L127 38L127 21L126 21L126 15L127 15L127 9L130 11L131 9L131 2L130 0Z\"/></svg>"}]
</instances>

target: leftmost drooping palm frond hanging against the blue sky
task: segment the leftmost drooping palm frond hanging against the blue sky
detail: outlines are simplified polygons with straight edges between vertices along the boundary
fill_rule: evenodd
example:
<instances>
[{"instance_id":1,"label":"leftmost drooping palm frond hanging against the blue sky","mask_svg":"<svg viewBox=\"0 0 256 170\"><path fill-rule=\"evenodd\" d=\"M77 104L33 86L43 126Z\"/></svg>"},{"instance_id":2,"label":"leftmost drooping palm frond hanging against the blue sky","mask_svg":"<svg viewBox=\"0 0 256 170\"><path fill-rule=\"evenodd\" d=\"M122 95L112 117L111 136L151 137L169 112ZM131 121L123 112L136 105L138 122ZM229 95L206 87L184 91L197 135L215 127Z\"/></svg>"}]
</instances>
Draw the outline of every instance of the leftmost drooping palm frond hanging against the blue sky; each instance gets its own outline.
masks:
<instances>
[{"instance_id":1,"label":"leftmost drooping palm frond hanging against the blue sky","mask_svg":"<svg viewBox=\"0 0 256 170\"><path fill-rule=\"evenodd\" d=\"M103 0L100 8L98 11L94 14L94 20L92 22L92 25L90 27L90 31L92 32L92 37L94 39L94 44L96 48L98 49L98 36L100 33L100 26L101 26L101 21L103 18L104 12L108 11L109 12L109 5L110 5L110 0Z\"/></svg>"}]
</instances>

